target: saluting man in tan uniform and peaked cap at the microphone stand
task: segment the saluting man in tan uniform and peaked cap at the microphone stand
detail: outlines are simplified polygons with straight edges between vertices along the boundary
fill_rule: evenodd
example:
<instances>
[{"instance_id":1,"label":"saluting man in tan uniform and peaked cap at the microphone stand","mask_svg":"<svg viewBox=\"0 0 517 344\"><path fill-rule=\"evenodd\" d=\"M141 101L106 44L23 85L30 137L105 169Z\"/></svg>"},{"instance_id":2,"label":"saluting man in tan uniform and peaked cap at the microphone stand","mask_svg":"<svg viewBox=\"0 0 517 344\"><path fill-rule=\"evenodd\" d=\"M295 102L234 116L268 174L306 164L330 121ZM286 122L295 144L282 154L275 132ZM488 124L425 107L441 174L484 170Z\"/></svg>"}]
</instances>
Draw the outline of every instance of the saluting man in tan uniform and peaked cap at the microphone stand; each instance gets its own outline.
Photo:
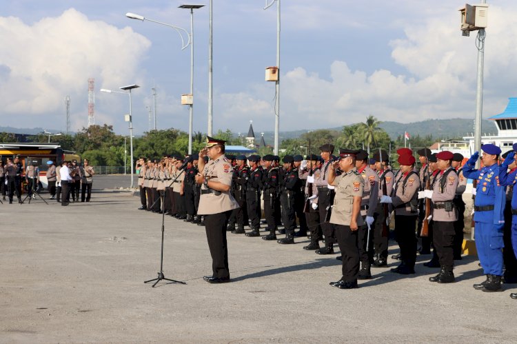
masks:
<instances>
[{"instance_id":1,"label":"saluting man in tan uniform and peaked cap at the microphone stand","mask_svg":"<svg viewBox=\"0 0 517 344\"><path fill-rule=\"evenodd\" d=\"M239 204L230 194L232 165L225 158L225 141L207 136L205 149L199 152L199 173L196 183L202 184L198 214L205 216L205 230L212 256L212 276L204 276L208 283L230 282L226 227L232 210ZM203 158L210 160L205 164Z\"/></svg>"}]
</instances>

